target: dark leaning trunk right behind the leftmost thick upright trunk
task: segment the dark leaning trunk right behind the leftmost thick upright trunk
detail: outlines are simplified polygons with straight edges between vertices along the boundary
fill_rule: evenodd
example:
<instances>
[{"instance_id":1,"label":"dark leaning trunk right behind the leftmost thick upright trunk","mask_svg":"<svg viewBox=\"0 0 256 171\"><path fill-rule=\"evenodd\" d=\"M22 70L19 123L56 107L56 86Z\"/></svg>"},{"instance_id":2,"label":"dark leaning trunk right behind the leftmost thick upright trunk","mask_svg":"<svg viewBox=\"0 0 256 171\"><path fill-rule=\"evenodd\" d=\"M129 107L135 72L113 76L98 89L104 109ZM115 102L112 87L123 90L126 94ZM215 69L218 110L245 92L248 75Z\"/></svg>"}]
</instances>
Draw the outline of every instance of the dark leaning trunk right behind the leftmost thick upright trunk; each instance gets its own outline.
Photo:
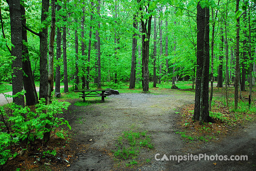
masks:
<instances>
[{"instance_id":1,"label":"dark leaning trunk right behind the leftmost thick upright trunk","mask_svg":"<svg viewBox=\"0 0 256 171\"><path fill-rule=\"evenodd\" d=\"M25 8L24 6L20 5L21 7L21 18L22 18L22 23L26 25L26 17L25 17ZM27 43L28 38L27 38L27 31L25 28L22 29L22 39ZM34 76L32 73L31 69L31 64L29 60L29 51L28 51L28 46L26 43L23 43L23 50L22 50L22 55L23 55L23 60L22 60L22 69L23 69L23 85L24 85L24 90L26 91L25 97L26 97L26 105L35 105L38 103L38 96L37 96L37 90L35 89L35 81L34 81Z\"/></svg>"}]
</instances>

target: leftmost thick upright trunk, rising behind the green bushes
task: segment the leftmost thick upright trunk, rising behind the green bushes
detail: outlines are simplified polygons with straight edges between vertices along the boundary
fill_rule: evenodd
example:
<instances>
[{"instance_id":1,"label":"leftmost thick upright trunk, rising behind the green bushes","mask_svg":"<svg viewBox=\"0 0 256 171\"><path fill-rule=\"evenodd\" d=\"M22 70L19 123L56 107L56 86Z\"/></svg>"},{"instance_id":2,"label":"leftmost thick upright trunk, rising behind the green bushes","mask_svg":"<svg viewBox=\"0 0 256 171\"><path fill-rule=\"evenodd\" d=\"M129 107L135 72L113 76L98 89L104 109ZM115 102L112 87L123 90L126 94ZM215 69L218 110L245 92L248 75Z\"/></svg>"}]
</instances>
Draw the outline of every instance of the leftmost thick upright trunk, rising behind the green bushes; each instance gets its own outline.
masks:
<instances>
[{"instance_id":1,"label":"leftmost thick upright trunk, rising behind the green bushes","mask_svg":"<svg viewBox=\"0 0 256 171\"><path fill-rule=\"evenodd\" d=\"M11 68L13 95L23 90L22 84L22 25L21 25L21 10L19 0L9 0L10 25L11 25L11 43L14 47L11 49L12 59ZM24 106L24 96L13 98L13 102L17 105Z\"/></svg>"}]
</instances>

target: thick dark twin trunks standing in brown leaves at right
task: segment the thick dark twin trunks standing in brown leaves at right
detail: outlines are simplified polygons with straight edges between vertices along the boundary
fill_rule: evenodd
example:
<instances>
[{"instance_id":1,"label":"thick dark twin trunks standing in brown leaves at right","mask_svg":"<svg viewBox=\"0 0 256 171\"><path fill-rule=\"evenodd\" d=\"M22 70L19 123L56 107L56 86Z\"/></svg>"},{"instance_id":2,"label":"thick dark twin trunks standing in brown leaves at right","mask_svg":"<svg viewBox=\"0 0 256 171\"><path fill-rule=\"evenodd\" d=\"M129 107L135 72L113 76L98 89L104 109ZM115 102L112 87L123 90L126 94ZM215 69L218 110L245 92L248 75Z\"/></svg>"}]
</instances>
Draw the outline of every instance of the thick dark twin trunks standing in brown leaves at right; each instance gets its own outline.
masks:
<instances>
[{"instance_id":1,"label":"thick dark twin trunks standing in brown leaves at right","mask_svg":"<svg viewBox=\"0 0 256 171\"><path fill-rule=\"evenodd\" d=\"M207 13L207 14L205 14ZM206 17L206 19L205 19ZM207 23L205 23L207 22ZM205 50L205 51L204 51ZM204 61L205 56L205 61ZM205 73L202 77L203 66ZM203 92L201 92L201 81L203 81ZM201 99L202 94L202 100ZM197 5L197 79L195 84L195 108L194 120L200 119L200 109L202 110L201 119L206 122L214 122L209 116L209 9L202 9ZM202 101L202 103L200 103Z\"/></svg>"}]
</instances>

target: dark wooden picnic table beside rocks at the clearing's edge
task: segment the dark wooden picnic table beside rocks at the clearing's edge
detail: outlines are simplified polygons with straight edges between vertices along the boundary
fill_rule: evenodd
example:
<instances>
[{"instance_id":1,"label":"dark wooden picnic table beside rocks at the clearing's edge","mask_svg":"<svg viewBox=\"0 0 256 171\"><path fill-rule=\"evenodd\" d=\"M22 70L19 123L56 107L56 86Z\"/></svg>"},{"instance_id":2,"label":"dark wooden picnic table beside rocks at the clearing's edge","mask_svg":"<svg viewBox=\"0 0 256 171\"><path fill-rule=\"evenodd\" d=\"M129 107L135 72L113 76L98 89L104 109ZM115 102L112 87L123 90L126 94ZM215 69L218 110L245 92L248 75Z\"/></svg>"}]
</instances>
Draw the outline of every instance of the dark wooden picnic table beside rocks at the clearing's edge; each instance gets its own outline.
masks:
<instances>
[{"instance_id":1,"label":"dark wooden picnic table beside rocks at the clearing's edge","mask_svg":"<svg viewBox=\"0 0 256 171\"><path fill-rule=\"evenodd\" d=\"M83 98L83 102L85 102L86 97L101 97L101 100L104 102L104 98L108 96L105 94L107 90L74 90L74 92L81 92L83 94L79 94L79 97Z\"/></svg>"}]
</instances>

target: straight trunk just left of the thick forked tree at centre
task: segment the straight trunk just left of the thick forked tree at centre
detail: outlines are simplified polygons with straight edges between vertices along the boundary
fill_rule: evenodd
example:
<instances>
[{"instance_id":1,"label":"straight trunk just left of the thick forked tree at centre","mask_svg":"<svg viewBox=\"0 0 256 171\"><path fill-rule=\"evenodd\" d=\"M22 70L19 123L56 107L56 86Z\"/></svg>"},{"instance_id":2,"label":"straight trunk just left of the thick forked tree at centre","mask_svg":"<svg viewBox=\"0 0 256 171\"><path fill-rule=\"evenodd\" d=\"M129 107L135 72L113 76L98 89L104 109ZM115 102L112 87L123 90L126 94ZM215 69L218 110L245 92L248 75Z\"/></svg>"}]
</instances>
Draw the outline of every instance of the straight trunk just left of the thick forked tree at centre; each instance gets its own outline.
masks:
<instances>
[{"instance_id":1,"label":"straight trunk just left of the thick forked tree at centre","mask_svg":"<svg viewBox=\"0 0 256 171\"><path fill-rule=\"evenodd\" d=\"M137 30L138 22L136 15L133 16L133 27ZM132 35L132 54L131 54L131 74L130 74L130 85L129 89L135 88L135 53L137 48L136 33Z\"/></svg>"}]
</instances>

